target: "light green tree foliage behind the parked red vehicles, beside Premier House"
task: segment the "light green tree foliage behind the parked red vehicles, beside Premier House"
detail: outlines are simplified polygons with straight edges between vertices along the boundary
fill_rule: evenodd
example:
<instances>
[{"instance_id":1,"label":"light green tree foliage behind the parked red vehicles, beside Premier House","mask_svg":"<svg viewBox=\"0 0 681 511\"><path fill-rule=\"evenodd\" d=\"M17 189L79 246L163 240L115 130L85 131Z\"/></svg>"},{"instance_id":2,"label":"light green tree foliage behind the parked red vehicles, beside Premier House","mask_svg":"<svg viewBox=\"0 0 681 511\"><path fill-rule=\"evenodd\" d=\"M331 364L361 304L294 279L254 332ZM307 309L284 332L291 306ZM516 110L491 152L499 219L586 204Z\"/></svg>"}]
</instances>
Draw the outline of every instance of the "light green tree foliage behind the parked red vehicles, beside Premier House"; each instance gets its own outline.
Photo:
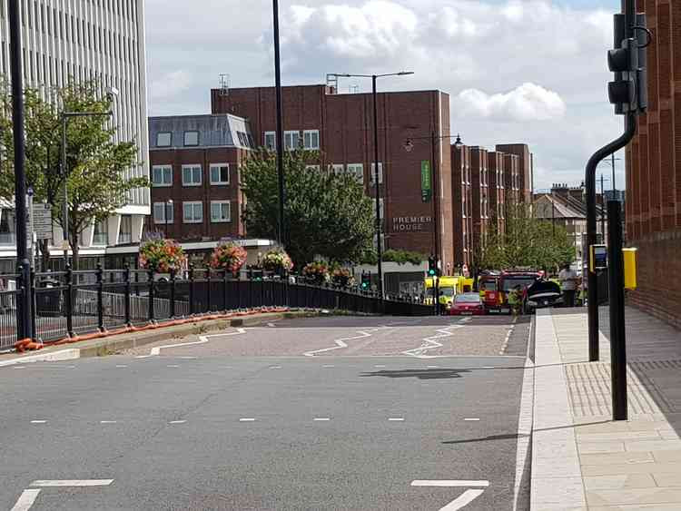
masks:
<instances>
[{"instance_id":1,"label":"light green tree foliage behind the parked red vehicles, beside Premier House","mask_svg":"<svg viewBox=\"0 0 681 511\"><path fill-rule=\"evenodd\" d=\"M476 251L480 269L529 267L556 270L575 259L574 241L563 226L532 218L525 205L510 206L506 229L493 232L483 250Z\"/></svg>"}]
</instances>

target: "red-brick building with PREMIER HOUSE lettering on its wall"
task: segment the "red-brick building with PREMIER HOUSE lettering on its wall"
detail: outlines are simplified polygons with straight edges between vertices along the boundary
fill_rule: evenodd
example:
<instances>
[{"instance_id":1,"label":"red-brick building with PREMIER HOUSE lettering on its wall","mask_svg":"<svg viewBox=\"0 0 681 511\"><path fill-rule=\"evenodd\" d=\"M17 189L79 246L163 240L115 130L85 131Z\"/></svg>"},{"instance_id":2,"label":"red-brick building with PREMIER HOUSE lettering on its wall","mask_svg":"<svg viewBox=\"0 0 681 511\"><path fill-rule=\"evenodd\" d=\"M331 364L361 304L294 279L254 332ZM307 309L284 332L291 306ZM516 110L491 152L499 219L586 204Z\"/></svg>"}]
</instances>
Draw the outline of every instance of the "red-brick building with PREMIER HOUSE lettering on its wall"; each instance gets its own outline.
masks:
<instances>
[{"instance_id":1,"label":"red-brick building with PREMIER HOUSE lettering on its wall","mask_svg":"<svg viewBox=\"0 0 681 511\"><path fill-rule=\"evenodd\" d=\"M276 105L273 87L212 90L212 113L247 119L256 145L274 148ZM320 150L336 172L353 172L375 197L373 100L370 93L337 93L327 85L283 87L286 149ZM434 253L434 193L439 193L438 230L442 269L451 267L454 231L449 141L449 95L440 91L378 94L383 246ZM431 133L437 143L432 147ZM405 148L410 140L410 151ZM433 190L422 199L421 172L435 154Z\"/></svg>"}]
</instances>

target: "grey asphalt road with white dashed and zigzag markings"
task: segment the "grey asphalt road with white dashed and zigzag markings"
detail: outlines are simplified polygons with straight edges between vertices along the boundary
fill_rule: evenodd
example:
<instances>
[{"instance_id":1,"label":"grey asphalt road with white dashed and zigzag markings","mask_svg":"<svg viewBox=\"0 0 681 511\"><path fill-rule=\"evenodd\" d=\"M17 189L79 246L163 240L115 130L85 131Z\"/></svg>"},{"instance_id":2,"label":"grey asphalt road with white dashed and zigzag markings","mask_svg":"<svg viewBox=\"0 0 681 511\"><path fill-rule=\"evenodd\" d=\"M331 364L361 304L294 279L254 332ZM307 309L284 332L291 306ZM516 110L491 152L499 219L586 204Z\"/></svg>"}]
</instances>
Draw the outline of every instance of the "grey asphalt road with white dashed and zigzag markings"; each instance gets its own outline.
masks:
<instances>
[{"instance_id":1,"label":"grey asphalt road with white dashed and zigzag markings","mask_svg":"<svg viewBox=\"0 0 681 511\"><path fill-rule=\"evenodd\" d=\"M0 369L0 508L524 509L528 331L290 319Z\"/></svg>"}]
</instances>

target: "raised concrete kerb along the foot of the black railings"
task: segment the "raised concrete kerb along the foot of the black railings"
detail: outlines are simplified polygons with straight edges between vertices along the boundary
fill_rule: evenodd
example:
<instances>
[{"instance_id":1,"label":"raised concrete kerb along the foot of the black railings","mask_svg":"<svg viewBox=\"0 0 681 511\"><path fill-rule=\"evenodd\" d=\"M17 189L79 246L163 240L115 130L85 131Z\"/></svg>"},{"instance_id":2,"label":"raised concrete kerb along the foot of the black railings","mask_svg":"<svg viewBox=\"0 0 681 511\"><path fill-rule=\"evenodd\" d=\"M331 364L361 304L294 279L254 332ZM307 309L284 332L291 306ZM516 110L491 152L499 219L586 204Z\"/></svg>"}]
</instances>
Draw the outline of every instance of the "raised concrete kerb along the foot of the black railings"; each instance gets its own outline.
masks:
<instances>
[{"instance_id":1,"label":"raised concrete kerb along the foot of the black railings","mask_svg":"<svg viewBox=\"0 0 681 511\"><path fill-rule=\"evenodd\" d=\"M166 327L163 329L126 333L111 338L84 340L82 342L74 342L73 344L49 347L41 349L38 352L12 354L7 356L8 359L0 359L0 368L33 362L54 362L89 357L104 357L113 355L123 349L139 348L162 340L181 339L189 335L196 335L207 331L230 327L254 327L262 323L279 319L312 318L321 316L324 313L332 314L333 312L321 310L290 310L287 312L263 313L234 319L197 320L196 322Z\"/></svg>"}]
</instances>

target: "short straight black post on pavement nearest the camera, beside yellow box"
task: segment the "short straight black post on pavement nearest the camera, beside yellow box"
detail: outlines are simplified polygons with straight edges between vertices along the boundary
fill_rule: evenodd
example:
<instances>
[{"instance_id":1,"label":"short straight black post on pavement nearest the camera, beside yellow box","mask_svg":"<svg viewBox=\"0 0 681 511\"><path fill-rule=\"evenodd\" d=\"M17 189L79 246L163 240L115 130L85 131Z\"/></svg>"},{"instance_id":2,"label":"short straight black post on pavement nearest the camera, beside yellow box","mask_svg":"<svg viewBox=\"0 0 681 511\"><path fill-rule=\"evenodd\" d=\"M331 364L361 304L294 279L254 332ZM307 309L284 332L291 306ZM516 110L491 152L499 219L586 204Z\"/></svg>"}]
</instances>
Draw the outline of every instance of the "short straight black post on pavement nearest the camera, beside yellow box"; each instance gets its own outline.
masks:
<instances>
[{"instance_id":1,"label":"short straight black post on pavement nearest the camera, beside yellow box","mask_svg":"<svg viewBox=\"0 0 681 511\"><path fill-rule=\"evenodd\" d=\"M627 420L627 334L625 331L624 260L622 258L622 210L618 201L607 201L607 253L609 254L610 366L612 418Z\"/></svg>"}]
</instances>

